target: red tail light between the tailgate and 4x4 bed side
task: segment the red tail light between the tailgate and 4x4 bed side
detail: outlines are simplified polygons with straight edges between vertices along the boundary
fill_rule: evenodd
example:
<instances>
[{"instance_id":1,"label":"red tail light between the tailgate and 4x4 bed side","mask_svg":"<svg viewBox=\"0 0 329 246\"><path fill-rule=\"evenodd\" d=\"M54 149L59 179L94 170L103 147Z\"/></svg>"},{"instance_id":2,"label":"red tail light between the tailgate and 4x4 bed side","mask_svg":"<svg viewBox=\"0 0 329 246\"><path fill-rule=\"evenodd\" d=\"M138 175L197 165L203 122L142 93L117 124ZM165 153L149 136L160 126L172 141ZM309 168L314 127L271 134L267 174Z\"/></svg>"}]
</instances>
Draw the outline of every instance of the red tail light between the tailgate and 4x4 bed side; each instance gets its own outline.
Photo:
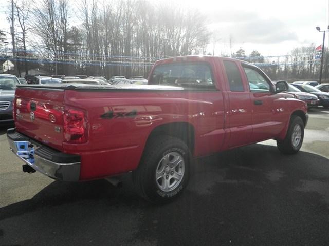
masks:
<instances>
[{"instance_id":1,"label":"red tail light between the tailgate and 4x4 bed side","mask_svg":"<svg viewBox=\"0 0 329 246\"><path fill-rule=\"evenodd\" d=\"M65 141L76 144L87 141L87 123L83 111L65 109L63 122Z\"/></svg>"}]
</instances>

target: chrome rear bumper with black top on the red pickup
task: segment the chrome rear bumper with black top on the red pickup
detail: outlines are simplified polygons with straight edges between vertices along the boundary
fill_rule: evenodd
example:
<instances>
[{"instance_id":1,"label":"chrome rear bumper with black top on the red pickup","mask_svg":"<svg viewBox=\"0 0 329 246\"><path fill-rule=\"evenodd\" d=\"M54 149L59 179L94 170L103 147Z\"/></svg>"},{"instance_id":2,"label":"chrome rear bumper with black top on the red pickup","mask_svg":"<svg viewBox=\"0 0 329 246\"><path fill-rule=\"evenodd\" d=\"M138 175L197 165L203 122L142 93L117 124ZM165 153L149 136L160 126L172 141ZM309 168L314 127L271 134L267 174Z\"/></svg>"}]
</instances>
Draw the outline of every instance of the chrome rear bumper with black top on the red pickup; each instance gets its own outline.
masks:
<instances>
[{"instance_id":1,"label":"chrome rear bumper with black top on the red pickup","mask_svg":"<svg viewBox=\"0 0 329 246\"><path fill-rule=\"evenodd\" d=\"M79 155L66 154L51 149L16 132L15 128L7 130L7 139L11 151L34 170L61 181L79 181L81 165ZM31 153L33 153L34 161L31 161L29 156L19 154L20 143L26 141L33 148Z\"/></svg>"}]
</instances>

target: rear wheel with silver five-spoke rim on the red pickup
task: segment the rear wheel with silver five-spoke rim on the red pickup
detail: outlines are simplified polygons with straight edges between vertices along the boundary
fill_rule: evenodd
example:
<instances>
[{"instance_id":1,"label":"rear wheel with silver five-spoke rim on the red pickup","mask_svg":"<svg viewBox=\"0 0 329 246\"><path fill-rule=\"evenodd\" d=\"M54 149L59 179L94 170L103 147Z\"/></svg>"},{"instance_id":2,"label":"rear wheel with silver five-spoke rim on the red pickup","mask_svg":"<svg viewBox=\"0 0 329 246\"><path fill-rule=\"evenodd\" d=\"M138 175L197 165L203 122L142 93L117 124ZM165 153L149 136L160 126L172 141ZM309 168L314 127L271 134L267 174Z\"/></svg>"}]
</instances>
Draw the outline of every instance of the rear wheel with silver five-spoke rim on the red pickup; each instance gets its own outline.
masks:
<instances>
[{"instance_id":1,"label":"rear wheel with silver five-spoke rim on the red pickup","mask_svg":"<svg viewBox=\"0 0 329 246\"><path fill-rule=\"evenodd\" d=\"M150 139L132 173L139 195L156 204L175 199L188 184L190 162L191 153L184 141L166 135Z\"/></svg>"}]
</instances>

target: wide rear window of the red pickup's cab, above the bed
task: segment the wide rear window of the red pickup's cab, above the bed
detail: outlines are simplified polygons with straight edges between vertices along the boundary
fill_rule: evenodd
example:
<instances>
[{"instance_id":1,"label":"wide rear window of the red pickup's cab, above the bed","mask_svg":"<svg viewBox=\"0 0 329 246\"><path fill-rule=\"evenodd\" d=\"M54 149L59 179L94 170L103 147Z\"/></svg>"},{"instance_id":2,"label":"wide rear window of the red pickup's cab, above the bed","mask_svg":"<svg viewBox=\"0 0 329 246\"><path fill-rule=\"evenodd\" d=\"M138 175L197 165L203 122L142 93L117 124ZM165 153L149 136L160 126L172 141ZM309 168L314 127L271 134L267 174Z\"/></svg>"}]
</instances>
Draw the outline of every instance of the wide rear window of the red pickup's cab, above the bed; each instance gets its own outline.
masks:
<instances>
[{"instance_id":1,"label":"wide rear window of the red pickup's cab, above the bed","mask_svg":"<svg viewBox=\"0 0 329 246\"><path fill-rule=\"evenodd\" d=\"M215 90L208 63L172 63L158 65L150 76L150 85L177 86L191 90Z\"/></svg>"}]
</instances>

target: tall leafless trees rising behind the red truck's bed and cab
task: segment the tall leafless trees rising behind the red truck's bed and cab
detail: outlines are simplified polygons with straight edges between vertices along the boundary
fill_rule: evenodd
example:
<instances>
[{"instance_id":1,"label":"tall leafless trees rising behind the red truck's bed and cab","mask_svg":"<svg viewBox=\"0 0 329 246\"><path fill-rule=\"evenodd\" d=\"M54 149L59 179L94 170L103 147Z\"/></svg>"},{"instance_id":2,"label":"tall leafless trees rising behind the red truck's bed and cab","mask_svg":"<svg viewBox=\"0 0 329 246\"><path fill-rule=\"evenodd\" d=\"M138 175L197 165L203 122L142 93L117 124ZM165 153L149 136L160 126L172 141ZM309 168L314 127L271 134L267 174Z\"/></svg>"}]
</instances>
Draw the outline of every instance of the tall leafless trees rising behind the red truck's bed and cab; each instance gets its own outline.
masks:
<instances>
[{"instance_id":1,"label":"tall leafless trees rising behind the red truck's bed and cab","mask_svg":"<svg viewBox=\"0 0 329 246\"><path fill-rule=\"evenodd\" d=\"M160 57L205 52L210 35L203 14L170 1L17 0L14 6L24 33L15 56L26 71L33 59L27 36L52 73L130 77L147 75Z\"/></svg>"}]
</instances>

